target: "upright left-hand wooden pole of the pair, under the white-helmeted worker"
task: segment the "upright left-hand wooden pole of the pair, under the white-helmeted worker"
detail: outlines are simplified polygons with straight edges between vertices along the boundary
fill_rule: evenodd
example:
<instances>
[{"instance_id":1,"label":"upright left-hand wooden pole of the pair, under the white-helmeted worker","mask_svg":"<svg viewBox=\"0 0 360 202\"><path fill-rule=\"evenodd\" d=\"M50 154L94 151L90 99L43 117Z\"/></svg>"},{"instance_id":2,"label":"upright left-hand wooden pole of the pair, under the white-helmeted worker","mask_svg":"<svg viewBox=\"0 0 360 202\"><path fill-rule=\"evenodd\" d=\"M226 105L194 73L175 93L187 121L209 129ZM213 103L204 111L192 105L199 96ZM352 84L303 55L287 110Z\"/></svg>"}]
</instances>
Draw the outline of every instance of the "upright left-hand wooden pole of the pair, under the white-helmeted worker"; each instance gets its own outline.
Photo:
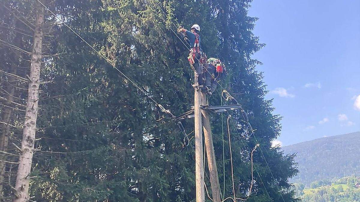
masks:
<instances>
[{"instance_id":1,"label":"upright left-hand wooden pole of the pair, under the white-helmeted worker","mask_svg":"<svg viewBox=\"0 0 360 202\"><path fill-rule=\"evenodd\" d=\"M194 84L198 83L198 77L194 72ZM201 118L201 90L195 89L194 94L194 119L195 119L195 185L196 185L196 202L205 201L204 190L204 159L202 144L202 118Z\"/></svg>"}]
</instances>

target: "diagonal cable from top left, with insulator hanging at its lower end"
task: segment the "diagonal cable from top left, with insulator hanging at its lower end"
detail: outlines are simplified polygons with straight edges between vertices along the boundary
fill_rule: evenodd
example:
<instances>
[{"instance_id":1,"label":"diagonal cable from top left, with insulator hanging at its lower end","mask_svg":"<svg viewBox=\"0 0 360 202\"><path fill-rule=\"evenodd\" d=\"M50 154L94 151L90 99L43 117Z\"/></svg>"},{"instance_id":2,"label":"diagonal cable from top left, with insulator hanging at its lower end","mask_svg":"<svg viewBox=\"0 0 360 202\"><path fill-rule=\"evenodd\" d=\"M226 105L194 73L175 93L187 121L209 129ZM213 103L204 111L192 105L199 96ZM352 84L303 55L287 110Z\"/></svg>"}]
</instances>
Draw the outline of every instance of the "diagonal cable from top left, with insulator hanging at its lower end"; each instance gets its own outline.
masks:
<instances>
[{"instance_id":1,"label":"diagonal cable from top left, with insulator hanging at its lower end","mask_svg":"<svg viewBox=\"0 0 360 202\"><path fill-rule=\"evenodd\" d=\"M118 69L108 58L106 58L104 55L100 54L99 51L97 51L93 46L91 46L87 41L85 41L84 38L82 38L80 35L78 35L78 33L76 33L71 27L68 26L67 23L65 23L60 17L58 17L58 15L55 15L47 6L45 6L43 3L41 3L40 0L36 0L38 1L42 6L44 6L44 8L49 11L55 18L57 18L58 20L60 20L60 22L62 22L67 28L69 28L76 36L78 36L82 41L84 41L91 49L93 49L101 58L105 59L114 69L116 69L118 72L120 72L123 77L125 77L128 81L130 81L136 88L138 88L141 92L143 92L150 100L152 100L160 109L163 113L169 114L171 116L171 118L175 119L175 116L170 112L170 110L166 110L165 107L163 107L161 104L159 104L157 101L155 101L150 95L148 95L148 92L145 92L142 88L140 88L135 82L133 82L129 77L127 77L124 73L122 73L120 71L120 69ZM189 145L189 137L187 136L184 126L180 121L177 121L176 125L183 131L184 133L184 146L188 146Z\"/></svg>"}]
</instances>

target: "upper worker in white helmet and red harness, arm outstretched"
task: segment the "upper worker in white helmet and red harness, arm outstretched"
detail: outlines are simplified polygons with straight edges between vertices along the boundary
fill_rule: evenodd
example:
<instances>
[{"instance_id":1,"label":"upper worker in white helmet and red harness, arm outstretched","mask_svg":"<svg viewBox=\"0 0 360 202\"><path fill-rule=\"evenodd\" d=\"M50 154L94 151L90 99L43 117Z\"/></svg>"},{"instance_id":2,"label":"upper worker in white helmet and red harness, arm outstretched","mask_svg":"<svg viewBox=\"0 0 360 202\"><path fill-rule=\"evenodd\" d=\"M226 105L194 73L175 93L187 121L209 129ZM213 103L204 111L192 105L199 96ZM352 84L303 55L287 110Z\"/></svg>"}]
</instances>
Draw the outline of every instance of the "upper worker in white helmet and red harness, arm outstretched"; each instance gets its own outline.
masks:
<instances>
[{"instance_id":1,"label":"upper worker in white helmet and red harness, arm outstretched","mask_svg":"<svg viewBox=\"0 0 360 202\"><path fill-rule=\"evenodd\" d=\"M202 61L202 51L201 51L201 39L200 39L200 26L198 24L194 24L191 27L191 32L182 28L181 26L177 29L178 32L182 32L186 35L188 40L190 41L190 53L189 53L189 63L193 66L197 76L198 76L198 84L195 84L194 87L202 87L203 85L203 65Z\"/></svg>"}]
</instances>

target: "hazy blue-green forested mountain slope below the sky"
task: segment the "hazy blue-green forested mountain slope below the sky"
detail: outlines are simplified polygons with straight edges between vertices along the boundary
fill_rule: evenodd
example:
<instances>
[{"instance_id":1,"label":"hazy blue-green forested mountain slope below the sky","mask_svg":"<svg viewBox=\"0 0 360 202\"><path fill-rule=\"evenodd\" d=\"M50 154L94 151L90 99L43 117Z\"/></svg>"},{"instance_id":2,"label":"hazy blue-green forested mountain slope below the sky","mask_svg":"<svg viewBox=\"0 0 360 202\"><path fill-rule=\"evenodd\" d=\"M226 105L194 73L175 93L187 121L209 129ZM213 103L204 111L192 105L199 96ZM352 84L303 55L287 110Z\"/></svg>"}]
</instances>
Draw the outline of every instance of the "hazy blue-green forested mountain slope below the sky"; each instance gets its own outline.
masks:
<instances>
[{"instance_id":1,"label":"hazy blue-green forested mountain slope below the sky","mask_svg":"<svg viewBox=\"0 0 360 202\"><path fill-rule=\"evenodd\" d=\"M296 153L300 173L292 179L309 185L316 180L360 174L360 132L314 139L283 147Z\"/></svg>"}]
</instances>

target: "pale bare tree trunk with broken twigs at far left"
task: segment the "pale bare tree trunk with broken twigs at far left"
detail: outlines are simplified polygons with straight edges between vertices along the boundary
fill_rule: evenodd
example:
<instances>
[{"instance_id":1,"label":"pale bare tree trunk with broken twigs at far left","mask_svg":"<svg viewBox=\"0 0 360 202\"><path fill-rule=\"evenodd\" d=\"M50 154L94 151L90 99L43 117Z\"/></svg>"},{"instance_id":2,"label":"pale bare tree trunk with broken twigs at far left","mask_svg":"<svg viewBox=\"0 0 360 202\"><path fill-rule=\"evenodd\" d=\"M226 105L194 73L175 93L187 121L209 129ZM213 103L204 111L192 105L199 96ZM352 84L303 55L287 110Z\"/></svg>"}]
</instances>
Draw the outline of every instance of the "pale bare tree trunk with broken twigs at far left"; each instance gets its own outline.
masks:
<instances>
[{"instance_id":1,"label":"pale bare tree trunk with broken twigs at far left","mask_svg":"<svg viewBox=\"0 0 360 202\"><path fill-rule=\"evenodd\" d=\"M19 167L15 184L14 202L26 202L29 199L29 175L31 171L32 156L35 142L36 120L39 102L40 67L42 58L42 24L44 22L44 8L38 4L33 47L31 52L30 80L28 97L19 157Z\"/></svg>"}]
</instances>

